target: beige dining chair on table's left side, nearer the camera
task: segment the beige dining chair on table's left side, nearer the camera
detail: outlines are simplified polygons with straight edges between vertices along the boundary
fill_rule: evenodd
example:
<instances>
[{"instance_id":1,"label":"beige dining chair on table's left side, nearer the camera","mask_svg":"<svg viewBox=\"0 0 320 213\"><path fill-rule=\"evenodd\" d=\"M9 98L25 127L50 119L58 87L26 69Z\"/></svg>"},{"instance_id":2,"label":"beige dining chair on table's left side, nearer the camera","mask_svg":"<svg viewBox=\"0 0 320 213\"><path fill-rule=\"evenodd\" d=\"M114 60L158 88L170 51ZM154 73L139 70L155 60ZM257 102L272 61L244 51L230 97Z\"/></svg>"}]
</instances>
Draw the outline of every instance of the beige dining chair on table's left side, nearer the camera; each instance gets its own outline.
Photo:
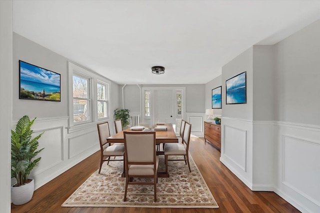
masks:
<instances>
[{"instance_id":1,"label":"beige dining chair on table's left side, nearer the camera","mask_svg":"<svg viewBox=\"0 0 320 213\"><path fill-rule=\"evenodd\" d=\"M101 172L101 167L104 161L107 161L107 165L109 165L109 161L123 161L123 159L113 159L111 160L111 156L123 156L124 155L124 146L117 146L112 145L110 146L110 143L107 143L106 139L110 137L110 129L109 129L109 123L99 123L97 124L98 129L98 135L99 135L99 142L100 142L100 152L101 152L101 158L100 158L100 168L99 168L99 174Z\"/></svg>"}]
</instances>

